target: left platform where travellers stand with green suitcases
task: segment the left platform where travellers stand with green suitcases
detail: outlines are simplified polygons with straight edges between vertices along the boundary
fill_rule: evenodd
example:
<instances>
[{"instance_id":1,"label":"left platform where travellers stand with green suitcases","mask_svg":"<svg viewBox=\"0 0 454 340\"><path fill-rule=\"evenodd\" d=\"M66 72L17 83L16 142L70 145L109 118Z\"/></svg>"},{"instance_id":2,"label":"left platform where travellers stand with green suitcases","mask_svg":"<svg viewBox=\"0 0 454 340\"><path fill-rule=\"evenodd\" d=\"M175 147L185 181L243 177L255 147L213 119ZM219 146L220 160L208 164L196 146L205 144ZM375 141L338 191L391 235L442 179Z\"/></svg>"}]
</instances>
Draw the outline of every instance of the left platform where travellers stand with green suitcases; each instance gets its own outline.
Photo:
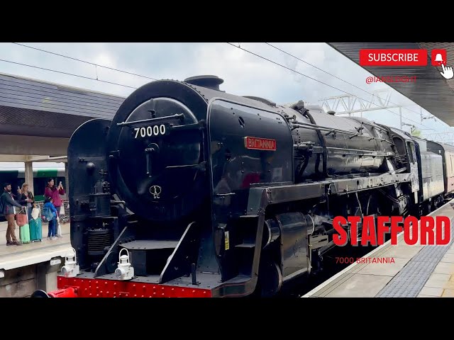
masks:
<instances>
[{"instance_id":1,"label":"left platform where travellers stand with green suitcases","mask_svg":"<svg viewBox=\"0 0 454 340\"><path fill-rule=\"evenodd\" d=\"M0 297L26 297L37 289L55 290L57 272L72 249L70 223L62 224L62 238L53 240L47 239L48 224L43 223L42 241L21 246L6 246L6 227L6 222L0 222Z\"/></svg>"}]
</instances>

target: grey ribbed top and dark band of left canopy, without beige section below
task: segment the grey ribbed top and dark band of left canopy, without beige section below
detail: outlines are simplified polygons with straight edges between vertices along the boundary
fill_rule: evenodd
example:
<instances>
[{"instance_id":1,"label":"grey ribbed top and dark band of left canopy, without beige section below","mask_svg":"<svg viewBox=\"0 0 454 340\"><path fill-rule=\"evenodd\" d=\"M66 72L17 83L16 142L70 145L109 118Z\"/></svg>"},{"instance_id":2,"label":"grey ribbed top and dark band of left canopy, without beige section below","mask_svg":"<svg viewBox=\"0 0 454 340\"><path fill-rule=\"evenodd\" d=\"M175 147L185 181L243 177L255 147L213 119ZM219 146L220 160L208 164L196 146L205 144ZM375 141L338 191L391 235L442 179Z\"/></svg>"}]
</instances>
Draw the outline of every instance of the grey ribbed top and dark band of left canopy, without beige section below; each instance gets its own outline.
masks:
<instances>
[{"instance_id":1,"label":"grey ribbed top and dark band of left canopy, without beige section below","mask_svg":"<svg viewBox=\"0 0 454 340\"><path fill-rule=\"evenodd\" d=\"M0 135L69 138L87 120L114 118L124 99L0 73Z\"/></svg>"}]
</instances>

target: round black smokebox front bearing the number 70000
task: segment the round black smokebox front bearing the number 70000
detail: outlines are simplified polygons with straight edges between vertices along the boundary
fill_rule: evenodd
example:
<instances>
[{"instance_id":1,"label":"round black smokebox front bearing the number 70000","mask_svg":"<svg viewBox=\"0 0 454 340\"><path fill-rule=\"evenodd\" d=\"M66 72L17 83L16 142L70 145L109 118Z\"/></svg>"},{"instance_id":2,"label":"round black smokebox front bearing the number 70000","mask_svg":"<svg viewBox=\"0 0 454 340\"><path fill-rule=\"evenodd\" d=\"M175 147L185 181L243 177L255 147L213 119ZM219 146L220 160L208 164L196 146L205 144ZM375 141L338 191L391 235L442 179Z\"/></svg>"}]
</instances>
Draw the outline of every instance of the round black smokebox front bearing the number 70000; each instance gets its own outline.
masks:
<instances>
[{"instance_id":1,"label":"round black smokebox front bearing the number 70000","mask_svg":"<svg viewBox=\"0 0 454 340\"><path fill-rule=\"evenodd\" d=\"M189 80L210 89L223 82L214 76ZM114 192L136 214L174 221L206 199L207 106L189 84L153 81L118 108L107 137L109 176Z\"/></svg>"}]
</instances>

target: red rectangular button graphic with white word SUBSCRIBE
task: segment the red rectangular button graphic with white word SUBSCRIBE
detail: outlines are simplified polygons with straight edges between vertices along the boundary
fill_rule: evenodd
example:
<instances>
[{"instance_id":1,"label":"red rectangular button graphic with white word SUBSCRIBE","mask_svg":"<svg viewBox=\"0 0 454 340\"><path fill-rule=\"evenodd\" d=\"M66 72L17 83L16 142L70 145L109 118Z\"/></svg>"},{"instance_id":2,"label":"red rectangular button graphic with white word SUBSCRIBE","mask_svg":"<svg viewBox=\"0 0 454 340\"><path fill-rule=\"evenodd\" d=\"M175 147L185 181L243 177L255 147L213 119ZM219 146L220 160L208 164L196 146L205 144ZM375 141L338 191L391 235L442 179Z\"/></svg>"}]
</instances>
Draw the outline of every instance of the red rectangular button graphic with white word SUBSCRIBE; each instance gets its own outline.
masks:
<instances>
[{"instance_id":1,"label":"red rectangular button graphic with white word SUBSCRIBE","mask_svg":"<svg viewBox=\"0 0 454 340\"><path fill-rule=\"evenodd\" d=\"M360 50L361 66L426 66L427 50Z\"/></svg>"}]
</instances>

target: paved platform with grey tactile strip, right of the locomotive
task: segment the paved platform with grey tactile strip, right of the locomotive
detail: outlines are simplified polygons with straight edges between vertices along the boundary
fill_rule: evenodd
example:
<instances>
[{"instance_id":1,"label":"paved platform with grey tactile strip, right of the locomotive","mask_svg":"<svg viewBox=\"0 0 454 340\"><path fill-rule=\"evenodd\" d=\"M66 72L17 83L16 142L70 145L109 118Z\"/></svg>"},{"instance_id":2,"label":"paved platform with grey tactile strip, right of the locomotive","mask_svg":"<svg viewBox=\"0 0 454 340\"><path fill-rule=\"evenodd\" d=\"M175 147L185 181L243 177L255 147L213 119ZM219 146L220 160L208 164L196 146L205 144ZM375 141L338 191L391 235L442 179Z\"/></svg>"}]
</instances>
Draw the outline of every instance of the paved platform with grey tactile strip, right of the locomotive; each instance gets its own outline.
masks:
<instances>
[{"instance_id":1,"label":"paved platform with grey tactile strip, right of the locomotive","mask_svg":"<svg viewBox=\"0 0 454 340\"><path fill-rule=\"evenodd\" d=\"M454 297L454 200L428 216L450 219L450 243L410 246L402 232L301 297Z\"/></svg>"}]
</instances>

